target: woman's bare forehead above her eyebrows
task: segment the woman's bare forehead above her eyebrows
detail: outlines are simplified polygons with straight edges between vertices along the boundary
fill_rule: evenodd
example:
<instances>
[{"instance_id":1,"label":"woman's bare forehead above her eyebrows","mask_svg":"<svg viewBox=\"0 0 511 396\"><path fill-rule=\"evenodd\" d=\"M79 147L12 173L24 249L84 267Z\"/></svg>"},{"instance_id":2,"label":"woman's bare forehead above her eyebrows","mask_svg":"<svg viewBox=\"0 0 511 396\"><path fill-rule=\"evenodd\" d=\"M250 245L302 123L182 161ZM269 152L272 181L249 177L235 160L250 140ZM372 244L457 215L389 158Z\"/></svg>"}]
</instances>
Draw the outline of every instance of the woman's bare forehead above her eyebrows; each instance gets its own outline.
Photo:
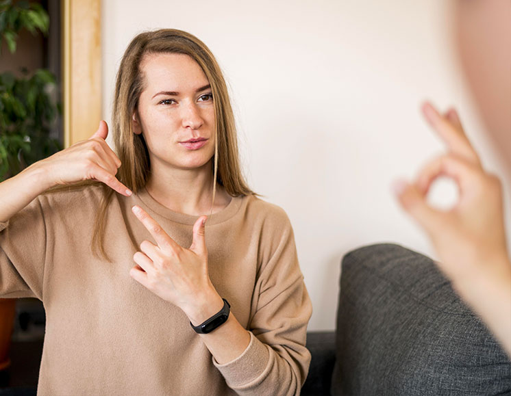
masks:
<instances>
[{"instance_id":1,"label":"woman's bare forehead above her eyebrows","mask_svg":"<svg viewBox=\"0 0 511 396\"><path fill-rule=\"evenodd\" d=\"M208 84L201 66L181 53L155 53L145 55L140 69L146 90L185 92Z\"/></svg>"}]
</instances>

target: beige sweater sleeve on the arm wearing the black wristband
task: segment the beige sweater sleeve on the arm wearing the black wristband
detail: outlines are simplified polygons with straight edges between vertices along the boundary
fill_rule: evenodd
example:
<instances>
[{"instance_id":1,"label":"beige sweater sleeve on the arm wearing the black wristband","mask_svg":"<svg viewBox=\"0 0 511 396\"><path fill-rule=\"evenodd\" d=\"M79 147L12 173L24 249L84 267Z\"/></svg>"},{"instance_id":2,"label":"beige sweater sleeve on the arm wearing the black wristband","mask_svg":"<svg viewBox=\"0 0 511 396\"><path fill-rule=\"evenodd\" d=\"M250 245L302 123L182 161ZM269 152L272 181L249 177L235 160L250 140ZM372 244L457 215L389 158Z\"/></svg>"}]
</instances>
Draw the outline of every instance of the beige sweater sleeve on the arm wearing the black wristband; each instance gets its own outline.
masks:
<instances>
[{"instance_id":1,"label":"beige sweater sleeve on the arm wearing the black wristband","mask_svg":"<svg viewBox=\"0 0 511 396\"><path fill-rule=\"evenodd\" d=\"M238 395L299 395L310 365L305 345L312 304L292 228L282 209L266 222L261 239L262 265L249 324L251 341L232 362L214 364Z\"/></svg>"}]
</instances>

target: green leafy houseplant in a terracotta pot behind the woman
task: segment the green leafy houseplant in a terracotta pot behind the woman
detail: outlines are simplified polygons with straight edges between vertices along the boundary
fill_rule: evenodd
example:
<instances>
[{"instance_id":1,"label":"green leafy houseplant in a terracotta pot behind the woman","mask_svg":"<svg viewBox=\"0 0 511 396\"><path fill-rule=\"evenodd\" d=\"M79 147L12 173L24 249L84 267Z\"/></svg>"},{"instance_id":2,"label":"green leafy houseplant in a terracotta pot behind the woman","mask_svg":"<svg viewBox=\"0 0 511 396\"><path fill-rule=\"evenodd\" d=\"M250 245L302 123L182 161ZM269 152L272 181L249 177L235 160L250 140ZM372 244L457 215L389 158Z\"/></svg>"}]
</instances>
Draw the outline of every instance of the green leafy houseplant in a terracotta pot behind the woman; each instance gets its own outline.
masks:
<instances>
[{"instance_id":1,"label":"green leafy houseplant in a terracotta pot behind the woman","mask_svg":"<svg viewBox=\"0 0 511 396\"><path fill-rule=\"evenodd\" d=\"M0 1L0 44L16 51L18 31L48 34L49 16L38 3ZM1 54L0 45L0 57ZM53 98L55 77L49 70L29 73L0 73L0 181L14 176L25 166L60 150L60 142L50 137L60 113ZM10 365L9 345L16 300L0 299L0 373ZM2 378L2 376L0 376Z\"/></svg>"}]
</instances>

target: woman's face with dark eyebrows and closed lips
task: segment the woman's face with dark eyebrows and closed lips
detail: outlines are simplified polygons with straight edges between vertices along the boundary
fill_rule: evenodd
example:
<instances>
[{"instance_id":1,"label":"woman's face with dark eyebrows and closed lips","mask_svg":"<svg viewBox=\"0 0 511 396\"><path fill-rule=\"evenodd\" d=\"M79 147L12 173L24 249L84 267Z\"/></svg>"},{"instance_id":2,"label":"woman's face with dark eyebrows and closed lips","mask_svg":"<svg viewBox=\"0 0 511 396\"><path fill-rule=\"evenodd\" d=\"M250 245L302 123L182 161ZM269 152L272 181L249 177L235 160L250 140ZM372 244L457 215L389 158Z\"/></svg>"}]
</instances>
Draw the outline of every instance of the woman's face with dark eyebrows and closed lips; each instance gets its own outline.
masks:
<instances>
[{"instance_id":1,"label":"woman's face with dark eyebrows and closed lips","mask_svg":"<svg viewBox=\"0 0 511 396\"><path fill-rule=\"evenodd\" d=\"M197 169L214 154L214 105L208 79L188 55L147 55L140 66L145 89L134 114L151 168Z\"/></svg>"}]
</instances>

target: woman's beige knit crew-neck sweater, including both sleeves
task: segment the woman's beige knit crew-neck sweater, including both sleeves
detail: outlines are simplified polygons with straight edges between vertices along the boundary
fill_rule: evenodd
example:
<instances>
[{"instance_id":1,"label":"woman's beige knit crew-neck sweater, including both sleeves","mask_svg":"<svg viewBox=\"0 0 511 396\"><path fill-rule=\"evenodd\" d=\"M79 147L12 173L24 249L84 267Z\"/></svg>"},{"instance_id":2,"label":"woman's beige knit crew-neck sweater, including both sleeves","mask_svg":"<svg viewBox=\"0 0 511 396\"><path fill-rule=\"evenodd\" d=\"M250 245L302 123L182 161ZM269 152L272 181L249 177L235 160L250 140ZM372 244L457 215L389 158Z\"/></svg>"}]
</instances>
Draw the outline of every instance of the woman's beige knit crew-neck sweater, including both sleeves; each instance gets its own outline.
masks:
<instances>
[{"instance_id":1,"label":"woman's beige knit crew-neck sweater, including both sleeves","mask_svg":"<svg viewBox=\"0 0 511 396\"><path fill-rule=\"evenodd\" d=\"M184 313L129 276L151 235L140 205L188 248L197 217L145 192L116 195L105 245L91 252L102 189L39 196L0 223L0 297L36 297L47 324L38 395L294 395L306 378L312 306L286 213L253 196L233 198L206 223L210 278L251 341L219 365Z\"/></svg>"}]
</instances>

